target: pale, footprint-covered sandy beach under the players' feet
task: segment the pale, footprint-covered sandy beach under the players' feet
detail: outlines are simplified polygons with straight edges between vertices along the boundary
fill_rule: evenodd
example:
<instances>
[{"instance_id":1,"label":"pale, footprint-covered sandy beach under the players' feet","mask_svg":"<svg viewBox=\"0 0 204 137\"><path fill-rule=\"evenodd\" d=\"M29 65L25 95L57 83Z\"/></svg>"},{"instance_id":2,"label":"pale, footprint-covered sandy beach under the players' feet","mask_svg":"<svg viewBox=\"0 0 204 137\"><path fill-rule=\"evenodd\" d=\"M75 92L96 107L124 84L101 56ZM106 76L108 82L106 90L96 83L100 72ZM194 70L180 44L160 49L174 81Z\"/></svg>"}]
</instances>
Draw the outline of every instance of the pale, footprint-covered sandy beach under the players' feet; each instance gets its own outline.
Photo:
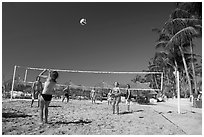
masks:
<instances>
[{"instance_id":1,"label":"pale, footprint-covered sandy beach under the players' feet","mask_svg":"<svg viewBox=\"0 0 204 137\"><path fill-rule=\"evenodd\" d=\"M201 135L202 109L182 109L173 101L156 105L120 104L120 115L113 115L106 101L53 100L49 107L49 123L39 124L37 102L9 101L2 103L3 135Z\"/></svg>"}]
</instances>

